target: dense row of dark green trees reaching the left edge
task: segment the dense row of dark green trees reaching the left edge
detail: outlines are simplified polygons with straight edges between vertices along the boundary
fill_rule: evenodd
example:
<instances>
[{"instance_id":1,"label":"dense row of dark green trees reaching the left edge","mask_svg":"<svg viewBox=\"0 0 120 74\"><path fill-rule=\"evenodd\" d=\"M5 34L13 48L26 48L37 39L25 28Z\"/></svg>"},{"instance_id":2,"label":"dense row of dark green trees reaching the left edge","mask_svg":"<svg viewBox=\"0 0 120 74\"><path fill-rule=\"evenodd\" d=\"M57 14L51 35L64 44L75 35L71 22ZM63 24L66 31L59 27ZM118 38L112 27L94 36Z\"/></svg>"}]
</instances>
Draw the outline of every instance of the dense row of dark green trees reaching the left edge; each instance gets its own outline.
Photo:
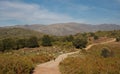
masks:
<instances>
[{"instance_id":1,"label":"dense row of dark green trees reaching the left edge","mask_svg":"<svg viewBox=\"0 0 120 74\"><path fill-rule=\"evenodd\" d=\"M39 47L37 37L30 37L26 39L12 39L12 38L5 38L0 40L0 51L8 51L8 50L16 50L20 48L35 48Z\"/></svg>"}]
</instances>

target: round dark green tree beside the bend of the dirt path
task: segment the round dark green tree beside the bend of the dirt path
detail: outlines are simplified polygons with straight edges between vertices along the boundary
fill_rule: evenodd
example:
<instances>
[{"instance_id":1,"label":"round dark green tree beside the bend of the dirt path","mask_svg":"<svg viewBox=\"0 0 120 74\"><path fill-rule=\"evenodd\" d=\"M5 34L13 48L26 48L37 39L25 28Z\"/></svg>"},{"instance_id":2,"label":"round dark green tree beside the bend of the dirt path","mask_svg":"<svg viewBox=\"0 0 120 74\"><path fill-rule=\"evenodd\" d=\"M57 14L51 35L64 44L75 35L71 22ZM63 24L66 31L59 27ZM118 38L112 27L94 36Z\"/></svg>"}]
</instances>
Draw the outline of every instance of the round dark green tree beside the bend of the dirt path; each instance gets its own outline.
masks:
<instances>
[{"instance_id":1,"label":"round dark green tree beside the bend of the dirt path","mask_svg":"<svg viewBox=\"0 0 120 74\"><path fill-rule=\"evenodd\" d=\"M74 39L74 41L72 42L73 43L73 46L75 46L75 48L85 48L86 45L87 45L87 39L86 38L77 38L77 39Z\"/></svg>"}]
</instances>

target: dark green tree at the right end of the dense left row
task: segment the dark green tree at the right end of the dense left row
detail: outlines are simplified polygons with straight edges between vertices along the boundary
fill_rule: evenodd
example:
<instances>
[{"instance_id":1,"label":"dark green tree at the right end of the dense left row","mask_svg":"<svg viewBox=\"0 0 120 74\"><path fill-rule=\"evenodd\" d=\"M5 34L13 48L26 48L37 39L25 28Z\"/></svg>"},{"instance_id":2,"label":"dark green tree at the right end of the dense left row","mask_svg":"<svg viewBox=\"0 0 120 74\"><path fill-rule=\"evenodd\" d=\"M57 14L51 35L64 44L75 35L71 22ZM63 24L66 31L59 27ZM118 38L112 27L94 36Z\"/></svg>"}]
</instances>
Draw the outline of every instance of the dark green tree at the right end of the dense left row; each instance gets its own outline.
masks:
<instances>
[{"instance_id":1,"label":"dark green tree at the right end of the dense left row","mask_svg":"<svg viewBox=\"0 0 120 74\"><path fill-rule=\"evenodd\" d=\"M38 43L37 37L30 37L27 40L26 46L29 47L29 48L39 47L39 43Z\"/></svg>"}]
</instances>

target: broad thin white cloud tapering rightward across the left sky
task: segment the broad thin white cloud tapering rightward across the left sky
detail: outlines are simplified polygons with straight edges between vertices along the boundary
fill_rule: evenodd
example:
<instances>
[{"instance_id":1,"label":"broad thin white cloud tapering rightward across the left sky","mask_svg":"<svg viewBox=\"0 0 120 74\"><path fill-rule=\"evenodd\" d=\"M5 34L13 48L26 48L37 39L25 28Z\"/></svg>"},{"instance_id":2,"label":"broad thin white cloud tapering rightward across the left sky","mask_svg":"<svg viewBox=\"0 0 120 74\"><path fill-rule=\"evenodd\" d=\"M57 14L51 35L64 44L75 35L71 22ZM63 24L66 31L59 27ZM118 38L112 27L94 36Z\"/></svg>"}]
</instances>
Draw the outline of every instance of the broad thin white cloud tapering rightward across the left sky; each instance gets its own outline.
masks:
<instances>
[{"instance_id":1,"label":"broad thin white cloud tapering rightward across the left sky","mask_svg":"<svg viewBox=\"0 0 120 74\"><path fill-rule=\"evenodd\" d=\"M75 21L70 16L50 12L37 4L0 2L0 21L17 20L28 23L51 23Z\"/></svg>"}]
</instances>

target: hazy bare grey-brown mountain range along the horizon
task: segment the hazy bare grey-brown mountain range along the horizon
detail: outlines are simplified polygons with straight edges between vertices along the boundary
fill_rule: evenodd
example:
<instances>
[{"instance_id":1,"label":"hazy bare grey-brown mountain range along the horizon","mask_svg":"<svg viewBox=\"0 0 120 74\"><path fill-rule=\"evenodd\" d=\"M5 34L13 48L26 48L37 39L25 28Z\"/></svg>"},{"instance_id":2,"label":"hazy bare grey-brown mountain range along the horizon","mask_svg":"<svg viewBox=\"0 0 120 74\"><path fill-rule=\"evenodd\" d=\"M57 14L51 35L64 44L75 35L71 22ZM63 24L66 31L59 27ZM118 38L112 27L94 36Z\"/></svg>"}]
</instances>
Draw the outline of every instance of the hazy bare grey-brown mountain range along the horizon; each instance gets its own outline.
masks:
<instances>
[{"instance_id":1,"label":"hazy bare grey-brown mountain range along the horizon","mask_svg":"<svg viewBox=\"0 0 120 74\"><path fill-rule=\"evenodd\" d=\"M81 23L58 23L51 25L17 25L13 27L20 27L25 29L31 29L39 31L45 34L52 34L57 36L64 36L70 34L76 34L80 32L94 32L94 31L110 31L119 30L120 25L116 24L100 24L100 25L90 25Z\"/></svg>"}]
</instances>

